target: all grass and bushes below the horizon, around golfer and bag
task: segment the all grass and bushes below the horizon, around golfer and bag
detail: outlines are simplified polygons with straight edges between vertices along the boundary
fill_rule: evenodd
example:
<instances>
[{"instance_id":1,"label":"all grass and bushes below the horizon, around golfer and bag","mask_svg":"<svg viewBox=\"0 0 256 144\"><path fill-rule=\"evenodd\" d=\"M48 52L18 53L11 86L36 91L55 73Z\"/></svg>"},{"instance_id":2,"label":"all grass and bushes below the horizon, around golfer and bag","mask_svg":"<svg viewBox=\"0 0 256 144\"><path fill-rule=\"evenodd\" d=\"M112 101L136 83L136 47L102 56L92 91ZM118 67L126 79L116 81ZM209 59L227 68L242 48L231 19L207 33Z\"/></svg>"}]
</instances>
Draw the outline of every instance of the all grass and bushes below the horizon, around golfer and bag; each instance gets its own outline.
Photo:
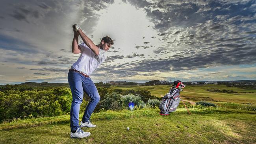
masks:
<instances>
[{"instance_id":1,"label":"all grass and bushes below the horizon, around golfer and bag","mask_svg":"<svg viewBox=\"0 0 256 144\"><path fill-rule=\"evenodd\" d=\"M83 128L92 133L88 138L71 139L69 87L42 85L0 86L1 144L256 143L256 90L252 88L189 85L181 96L197 103L185 102L192 115L180 103L175 112L161 116L158 105L170 86L98 83L101 100L91 116L97 127ZM237 93L229 93L232 91ZM84 96L80 120L88 101ZM133 111L128 109L130 101L135 104Z\"/></svg>"}]
</instances>

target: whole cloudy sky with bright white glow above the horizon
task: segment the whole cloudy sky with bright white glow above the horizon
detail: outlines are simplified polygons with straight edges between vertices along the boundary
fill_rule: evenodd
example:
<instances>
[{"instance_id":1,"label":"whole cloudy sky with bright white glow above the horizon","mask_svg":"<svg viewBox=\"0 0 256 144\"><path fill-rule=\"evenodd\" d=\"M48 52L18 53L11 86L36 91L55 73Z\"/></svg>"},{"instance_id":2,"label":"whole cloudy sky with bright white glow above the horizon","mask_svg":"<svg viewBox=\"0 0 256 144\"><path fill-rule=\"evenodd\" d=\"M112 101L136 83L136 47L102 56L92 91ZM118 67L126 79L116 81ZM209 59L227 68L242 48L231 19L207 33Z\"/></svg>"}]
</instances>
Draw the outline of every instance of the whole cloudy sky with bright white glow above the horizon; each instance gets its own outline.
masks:
<instances>
[{"instance_id":1,"label":"whole cloudy sky with bright white glow above the horizon","mask_svg":"<svg viewBox=\"0 0 256 144\"><path fill-rule=\"evenodd\" d=\"M1 0L0 84L66 83L73 24L114 40L94 82L256 79L254 0Z\"/></svg>"}]
</instances>

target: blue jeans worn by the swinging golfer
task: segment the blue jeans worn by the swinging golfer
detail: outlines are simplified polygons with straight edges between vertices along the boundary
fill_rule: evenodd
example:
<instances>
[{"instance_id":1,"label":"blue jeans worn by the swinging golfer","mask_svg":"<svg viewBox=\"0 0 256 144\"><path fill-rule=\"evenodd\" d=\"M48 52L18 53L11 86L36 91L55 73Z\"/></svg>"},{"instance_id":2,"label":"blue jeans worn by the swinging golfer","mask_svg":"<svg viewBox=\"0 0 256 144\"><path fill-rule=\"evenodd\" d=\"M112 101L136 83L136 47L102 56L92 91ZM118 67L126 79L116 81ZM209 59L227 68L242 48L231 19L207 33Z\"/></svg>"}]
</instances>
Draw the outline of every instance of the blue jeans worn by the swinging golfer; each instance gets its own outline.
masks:
<instances>
[{"instance_id":1,"label":"blue jeans worn by the swinging golfer","mask_svg":"<svg viewBox=\"0 0 256 144\"><path fill-rule=\"evenodd\" d=\"M70 109L70 128L71 131L76 131L76 129L79 128L79 110L83 100L83 92L85 92L91 100L85 109L82 122L89 121L97 103L100 101L100 95L91 78L87 78L79 72L69 71L68 81L73 98Z\"/></svg>"}]
</instances>

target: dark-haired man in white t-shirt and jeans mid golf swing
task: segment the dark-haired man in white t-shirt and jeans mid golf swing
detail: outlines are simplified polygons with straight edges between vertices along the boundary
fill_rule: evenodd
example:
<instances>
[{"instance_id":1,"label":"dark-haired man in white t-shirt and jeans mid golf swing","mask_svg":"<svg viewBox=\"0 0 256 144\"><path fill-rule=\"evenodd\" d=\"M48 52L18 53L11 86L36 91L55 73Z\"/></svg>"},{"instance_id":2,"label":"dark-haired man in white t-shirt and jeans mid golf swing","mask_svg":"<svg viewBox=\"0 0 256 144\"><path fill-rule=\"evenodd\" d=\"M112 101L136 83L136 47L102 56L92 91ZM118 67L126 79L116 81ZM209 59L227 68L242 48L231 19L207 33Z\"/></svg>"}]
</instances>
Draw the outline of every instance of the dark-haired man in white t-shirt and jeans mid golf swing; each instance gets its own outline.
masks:
<instances>
[{"instance_id":1,"label":"dark-haired man in white t-shirt and jeans mid golf swing","mask_svg":"<svg viewBox=\"0 0 256 144\"><path fill-rule=\"evenodd\" d=\"M100 95L95 84L89 77L90 74L103 63L106 59L106 52L109 50L113 40L110 37L103 37L98 45L95 45L89 37L87 37L77 24L73 26L74 38L72 41L72 53L80 54L78 60L71 66L68 74L69 86L72 93L72 104L70 109L70 137L83 138L91 135L90 132L84 132L80 127L96 127L90 122L97 103L100 101ZM83 42L78 45L78 37ZM83 100L83 92L85 92L91 100L89 101L82 121L79 126L79 110Z\"/></svg>"}]
</instances>

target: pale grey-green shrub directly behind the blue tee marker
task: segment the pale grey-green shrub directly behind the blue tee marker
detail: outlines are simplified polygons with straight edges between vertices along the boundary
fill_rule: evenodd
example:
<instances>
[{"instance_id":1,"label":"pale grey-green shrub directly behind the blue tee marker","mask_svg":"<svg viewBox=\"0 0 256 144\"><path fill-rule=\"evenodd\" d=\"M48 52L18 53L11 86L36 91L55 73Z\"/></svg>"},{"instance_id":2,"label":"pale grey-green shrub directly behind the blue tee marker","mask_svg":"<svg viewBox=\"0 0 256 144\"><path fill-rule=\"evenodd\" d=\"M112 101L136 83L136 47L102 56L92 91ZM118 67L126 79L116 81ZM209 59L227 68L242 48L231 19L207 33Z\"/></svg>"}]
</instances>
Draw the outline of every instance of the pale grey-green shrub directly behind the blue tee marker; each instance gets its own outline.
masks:
<instances>
[{"instance_id":1,"label":"pale grey-green shrub directly behind the blue tee marker","mask_svg":"<svg viewBox=\"0 0 256 144\"><path fill-rule=\"evenodd\" d=\"M134 107L143 108L146 104L141 100L141 97L138 95L128 94L126 96L122 96L122 106L126 109L129 109L128 104L130 102L134 103Z\"/></svg>"}]
</instances>

